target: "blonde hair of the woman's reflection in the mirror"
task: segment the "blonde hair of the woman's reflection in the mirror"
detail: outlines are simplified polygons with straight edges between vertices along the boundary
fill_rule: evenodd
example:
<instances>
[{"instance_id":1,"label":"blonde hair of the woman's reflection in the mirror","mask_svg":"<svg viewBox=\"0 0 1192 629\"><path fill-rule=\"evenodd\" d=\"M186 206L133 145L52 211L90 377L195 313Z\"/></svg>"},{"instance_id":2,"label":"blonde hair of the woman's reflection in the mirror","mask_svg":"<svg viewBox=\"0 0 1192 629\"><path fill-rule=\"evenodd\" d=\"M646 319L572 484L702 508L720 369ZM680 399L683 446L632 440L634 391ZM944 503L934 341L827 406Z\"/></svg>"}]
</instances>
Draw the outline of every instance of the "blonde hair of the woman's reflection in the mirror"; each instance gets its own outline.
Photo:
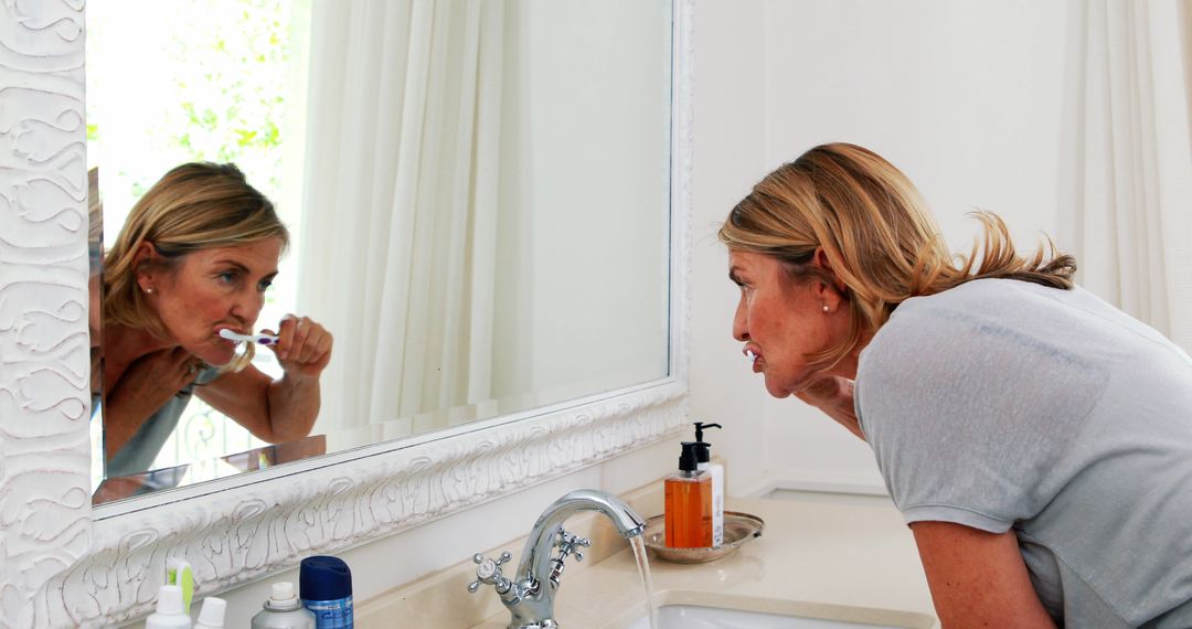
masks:
<instances>
[{"instance_id":1,"label":"blonde hair of the woman's reflection in the mirror","mask_svg":"<svg viewBox=\"0 0 1192 629\"><path fill-rule=\"evenodd\" d=\"M232 163L193 162L173 168L141 198L105 256L104 320L148 330L168 338L137 285L137 272L175 269L187 254L218 247L238 247L290 232L273 204L248 183ZM136 260L142 243L157 251L154 260ZM230 366L238 369L253 357L253 344Z\"/></svg>"}]
</instances>

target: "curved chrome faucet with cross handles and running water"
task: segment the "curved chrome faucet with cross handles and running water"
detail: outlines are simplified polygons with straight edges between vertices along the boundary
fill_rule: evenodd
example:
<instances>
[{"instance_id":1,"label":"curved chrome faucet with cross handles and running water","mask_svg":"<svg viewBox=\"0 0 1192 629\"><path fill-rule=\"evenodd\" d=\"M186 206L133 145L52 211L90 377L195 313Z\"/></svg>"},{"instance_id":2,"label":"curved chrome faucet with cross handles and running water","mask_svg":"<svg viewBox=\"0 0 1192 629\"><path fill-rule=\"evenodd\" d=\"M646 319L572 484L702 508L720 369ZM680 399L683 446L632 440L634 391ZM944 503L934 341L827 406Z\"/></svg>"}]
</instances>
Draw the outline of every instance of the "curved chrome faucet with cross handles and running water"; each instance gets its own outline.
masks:
<instances>
[{"instance_id":1,"label":"curved chrome faucet with cross handles and running water","mask_svg":"<svg viewBox=\"0 0 1192 629\"><path fill-rule=\"evenodd\" d=\"M552 503L538 517L514 579L501 573L501 566L513 559L508 552L501 553L497 560L485 559L479 553L472 555L477 563L476 580L467 591L476 593L480 584L492 585L513 615L509 629L558 629L554 591L559 588L564 560L573 554L576 561L582 561L584 555L579 548L591 546L588 540L563 530L564 521L577 511L604 513L626 540L641 535L646 528L641 516L620 498L596 490L577 490ZM554 554L555 548L558 554Z\"/></svg>"}]
</instances>

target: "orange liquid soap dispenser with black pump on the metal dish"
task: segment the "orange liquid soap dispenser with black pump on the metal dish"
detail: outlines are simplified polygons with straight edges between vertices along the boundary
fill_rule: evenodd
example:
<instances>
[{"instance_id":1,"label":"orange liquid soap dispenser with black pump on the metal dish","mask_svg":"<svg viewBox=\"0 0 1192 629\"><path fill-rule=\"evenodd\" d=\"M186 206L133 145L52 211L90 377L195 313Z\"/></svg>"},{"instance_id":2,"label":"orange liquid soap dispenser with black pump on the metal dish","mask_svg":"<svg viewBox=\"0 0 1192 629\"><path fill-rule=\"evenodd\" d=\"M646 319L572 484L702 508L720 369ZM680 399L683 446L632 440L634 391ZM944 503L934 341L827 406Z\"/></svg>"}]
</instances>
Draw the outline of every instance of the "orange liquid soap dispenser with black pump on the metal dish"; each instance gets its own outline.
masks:
<instances>
[{"instance_id":1,"label":"orange liquid soap dispenser with black pump on the metal dish","mask_svg":"<svg viewBox=\"0 0 1192 629\"><path fill-rule=\"evenodd\" d=\"M712 478L699 469L700 444L684 441L678 471L664 481L668 548L712 546Z\"/></svg>"}]
</instances>

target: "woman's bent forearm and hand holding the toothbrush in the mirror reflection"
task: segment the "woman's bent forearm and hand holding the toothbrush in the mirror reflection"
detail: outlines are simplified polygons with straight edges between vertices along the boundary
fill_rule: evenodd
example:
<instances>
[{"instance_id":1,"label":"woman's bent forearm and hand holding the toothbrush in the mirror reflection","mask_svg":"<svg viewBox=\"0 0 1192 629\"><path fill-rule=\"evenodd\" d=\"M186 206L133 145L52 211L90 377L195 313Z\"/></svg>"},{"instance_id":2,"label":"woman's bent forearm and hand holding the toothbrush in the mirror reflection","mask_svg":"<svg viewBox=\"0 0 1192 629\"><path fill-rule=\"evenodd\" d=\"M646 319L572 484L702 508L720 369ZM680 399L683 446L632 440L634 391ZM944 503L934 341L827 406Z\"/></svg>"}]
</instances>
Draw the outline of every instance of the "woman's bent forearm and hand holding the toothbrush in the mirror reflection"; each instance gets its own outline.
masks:
<instances>
[{"instance_id":1,"label":"woman's bent forearm and hand holding the toothbrush in the mirror reflection","mask_svg":"<svg viewBox=\"0 0 1192 629\"><path fill-rule=\"evenodd\" d=\"M273 380L253 366L197 387L195 394L269 443L310 435L321 404L319 375L331 360L331 334L309 318L287 318L271 349L284 375Z\"/></svg>"}]
</instances>

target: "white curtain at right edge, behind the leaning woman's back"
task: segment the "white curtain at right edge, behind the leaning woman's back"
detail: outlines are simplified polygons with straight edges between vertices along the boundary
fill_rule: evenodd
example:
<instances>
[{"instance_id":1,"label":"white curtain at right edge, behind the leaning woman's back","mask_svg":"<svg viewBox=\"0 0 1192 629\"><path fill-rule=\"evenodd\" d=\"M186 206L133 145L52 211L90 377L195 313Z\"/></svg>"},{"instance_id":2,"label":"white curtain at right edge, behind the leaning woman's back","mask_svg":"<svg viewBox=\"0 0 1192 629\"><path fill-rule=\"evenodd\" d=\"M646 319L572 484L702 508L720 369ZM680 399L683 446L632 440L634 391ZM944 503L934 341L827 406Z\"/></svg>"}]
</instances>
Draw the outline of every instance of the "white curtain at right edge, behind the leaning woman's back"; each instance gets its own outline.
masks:
<instances>
[{"instance_id":1,"label":"white curtain at right edge, behind the leaning woman's back","mask_svg":"<svg viewBox=\"0 0 1192 629\"><path fill-rule=\"evenodd\" d=\"M1082 286L1192 351L1187 2L1073 7L1061 242Z\"/></svg>"}]
</instances>

